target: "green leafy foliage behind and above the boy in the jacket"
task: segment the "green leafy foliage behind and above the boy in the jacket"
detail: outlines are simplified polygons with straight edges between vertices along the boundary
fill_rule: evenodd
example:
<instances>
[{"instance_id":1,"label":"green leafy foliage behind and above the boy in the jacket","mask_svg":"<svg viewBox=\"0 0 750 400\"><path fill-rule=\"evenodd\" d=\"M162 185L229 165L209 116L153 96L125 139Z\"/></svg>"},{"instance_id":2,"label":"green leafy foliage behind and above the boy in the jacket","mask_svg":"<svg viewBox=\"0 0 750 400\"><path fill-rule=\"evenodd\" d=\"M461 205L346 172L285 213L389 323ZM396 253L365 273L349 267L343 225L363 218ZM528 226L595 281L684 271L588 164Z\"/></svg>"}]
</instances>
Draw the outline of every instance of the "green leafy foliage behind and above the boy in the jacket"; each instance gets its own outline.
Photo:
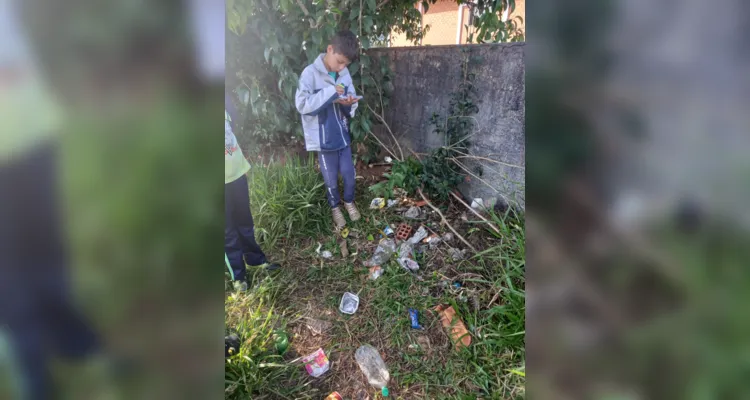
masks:
<instances>
[{"instance_id":1,"label":"green leafy foliage behind and above the boy in the jacket","mask_svg":"<svg viewBox=\"0 0 750 400\"><path fill-rule=\"evenodd\" d=\"M227 25L231 32L227 36L227 76L234 86L245 83L249 86L235 99L239 100L241 114L237 137L243 147L250 147L250 142L253 148L260 148L260 143L283 146L290 140L298 140L293 137L302 137L300 116L294 106L299 74L325 51L337 31L349 29L357 34L362 50L384 45L378 39L381 35L387 38L394 29L410 38L421 37L424 30L414 3L391 0L378 10L380 1L227 1ZM349 71L357 91L367 93L350 131L356 142L364 142L371 151L377 144L368 140L368 132L372 132L377 121L367 106L383 113L382 108L389 103L393 92L391 70L384 57L374 59L363 52L358 62L349 66Z\"/></svg>"}]
</instances>

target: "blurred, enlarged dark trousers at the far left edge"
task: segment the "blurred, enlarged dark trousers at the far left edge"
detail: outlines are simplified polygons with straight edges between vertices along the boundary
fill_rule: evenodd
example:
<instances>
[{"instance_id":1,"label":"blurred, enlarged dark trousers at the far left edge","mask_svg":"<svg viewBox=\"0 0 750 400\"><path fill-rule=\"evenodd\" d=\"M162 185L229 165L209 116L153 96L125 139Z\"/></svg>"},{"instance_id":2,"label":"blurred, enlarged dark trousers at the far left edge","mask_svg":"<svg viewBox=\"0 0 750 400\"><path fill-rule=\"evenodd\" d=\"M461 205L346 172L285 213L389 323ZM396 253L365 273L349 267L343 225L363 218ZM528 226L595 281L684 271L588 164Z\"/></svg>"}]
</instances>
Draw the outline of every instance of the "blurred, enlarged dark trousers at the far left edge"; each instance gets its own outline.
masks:
<instances>
[{"instance_id":1,"label":"blurred, enlarged dark trousers at the far left edge","mask_svg":"<svg viewBox=\"0 0 750 400\"><path fill-rule=\"evenodd\" d=\"M10 334L29 399L52 397L52 357L99 350L71 301L57 176L51 144L0 164L0 328Z\"/></svg>"}]
</instances>

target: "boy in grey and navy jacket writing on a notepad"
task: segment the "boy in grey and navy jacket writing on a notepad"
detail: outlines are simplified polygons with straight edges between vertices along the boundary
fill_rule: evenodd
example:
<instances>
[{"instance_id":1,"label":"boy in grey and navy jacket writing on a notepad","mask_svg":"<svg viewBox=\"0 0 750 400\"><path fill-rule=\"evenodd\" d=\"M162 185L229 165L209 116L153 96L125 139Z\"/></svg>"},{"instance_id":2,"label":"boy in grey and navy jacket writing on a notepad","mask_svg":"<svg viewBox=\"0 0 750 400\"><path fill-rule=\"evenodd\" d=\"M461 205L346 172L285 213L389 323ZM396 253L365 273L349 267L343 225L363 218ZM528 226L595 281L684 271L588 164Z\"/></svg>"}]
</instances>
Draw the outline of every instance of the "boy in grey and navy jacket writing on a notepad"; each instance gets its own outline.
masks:
<instances>
[{"instance_id":1,"label":"boy in grey and navy jacket writing on a notepad","mask_svg":"<svg viewBox=\"0 0 750 400\"><path fill-rule=\"evenodd\" d=\"M321 54L300 75L296 94L302 114L307 151L317 151L328 204L337 229L346 225L339 207L339 174L344 181L344 208L352 221L361 218L354 205L355 174L348 122L357 109L352 77L346 68L359 54L359 41L350 31L336 34Z\"/></svg>"}]
</instances>

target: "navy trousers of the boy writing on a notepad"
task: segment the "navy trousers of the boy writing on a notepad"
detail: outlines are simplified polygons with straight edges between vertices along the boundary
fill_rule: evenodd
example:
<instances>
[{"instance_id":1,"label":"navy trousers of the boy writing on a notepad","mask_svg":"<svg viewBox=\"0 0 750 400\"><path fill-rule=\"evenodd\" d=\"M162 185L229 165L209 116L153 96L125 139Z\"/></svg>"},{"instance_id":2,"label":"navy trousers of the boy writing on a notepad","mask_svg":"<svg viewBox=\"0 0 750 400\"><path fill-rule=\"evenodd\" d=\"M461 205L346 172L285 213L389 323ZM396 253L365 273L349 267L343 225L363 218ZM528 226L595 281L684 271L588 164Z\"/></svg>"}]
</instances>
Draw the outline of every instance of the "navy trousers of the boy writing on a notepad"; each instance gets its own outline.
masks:
<instances>
[{"instance_id":1,"label":"navy trousers of the boy writing on a notepad","mask_svg":"<svg viewBox=\"0 0 750 400\"><path fill-rule=\"evenodd\" d=\"M323 181L326 183L326 196L331 208L341 204L339 194L339 174L344 181L344 202L354 201L355 172L354 161L352 161L352 147L338 151L321 151L318 153L320 172L323 173Z\"/></svg>"}]
</instances>

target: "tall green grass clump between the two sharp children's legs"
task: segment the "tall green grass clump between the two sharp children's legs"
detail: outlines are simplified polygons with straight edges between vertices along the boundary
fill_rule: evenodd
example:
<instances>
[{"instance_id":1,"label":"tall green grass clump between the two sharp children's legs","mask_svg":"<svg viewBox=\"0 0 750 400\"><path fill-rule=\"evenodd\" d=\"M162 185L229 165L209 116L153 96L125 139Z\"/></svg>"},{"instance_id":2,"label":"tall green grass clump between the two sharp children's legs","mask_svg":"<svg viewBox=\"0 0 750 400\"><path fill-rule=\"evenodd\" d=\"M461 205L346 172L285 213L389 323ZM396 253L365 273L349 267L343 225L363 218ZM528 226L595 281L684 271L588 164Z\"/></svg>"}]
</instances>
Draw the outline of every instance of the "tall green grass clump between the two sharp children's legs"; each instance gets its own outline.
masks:
<instances>
[{"instance_id":1,"label":"tall green grass clump between the two sharp children's legs","mask_svg":"<svg viewBox=\"0 0 750 400\"><path fill-rule=\"evenodd\" d=\"M282 238L330 231L331 210L314 160L312 154L306 163L289 156L283 164L272 161L251 169L250 207L258 241L264 246L273 247Z\"/></svg>"}]
</instances>

